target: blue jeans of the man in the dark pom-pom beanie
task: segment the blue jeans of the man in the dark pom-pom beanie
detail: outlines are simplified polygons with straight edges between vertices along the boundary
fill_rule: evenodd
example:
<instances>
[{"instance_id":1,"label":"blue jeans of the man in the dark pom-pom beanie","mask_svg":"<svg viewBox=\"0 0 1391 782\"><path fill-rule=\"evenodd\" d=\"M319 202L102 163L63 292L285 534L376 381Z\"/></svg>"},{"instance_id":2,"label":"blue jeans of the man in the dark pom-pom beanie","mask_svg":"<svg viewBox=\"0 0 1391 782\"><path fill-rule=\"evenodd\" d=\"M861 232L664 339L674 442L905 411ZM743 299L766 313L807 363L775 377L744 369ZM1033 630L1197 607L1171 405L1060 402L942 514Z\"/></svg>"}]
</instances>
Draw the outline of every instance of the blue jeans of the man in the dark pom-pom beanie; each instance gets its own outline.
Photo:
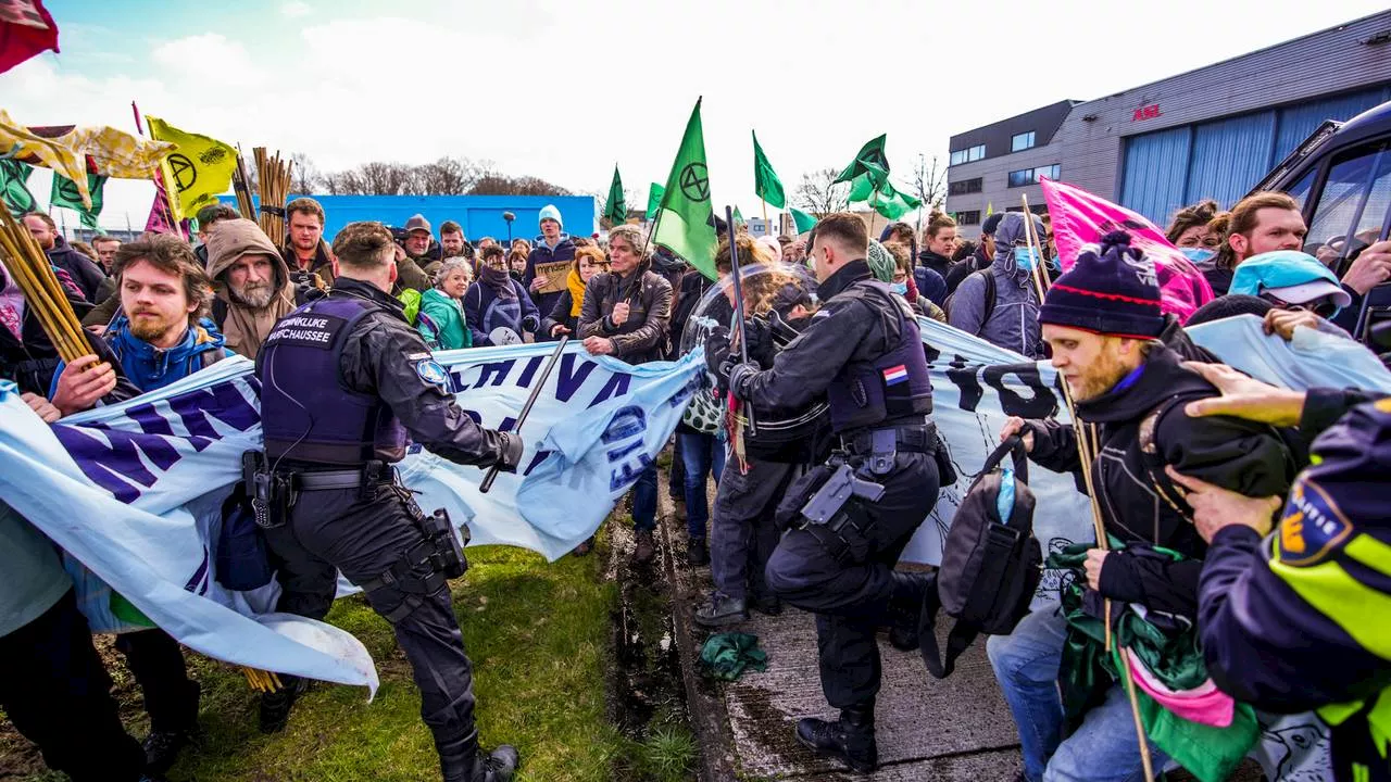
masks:
<instances>
[{"instance_id":1,"label":"blue jeans of the man in the dark pom-pom beanie","mask_svg":"<svg viewBox=\"0 0 1391 782\"><path fill-rule=\"evenodd\" d=\"M1063 700L1057 671L1067 619L1056 608L1035 611L1008 636L990 636L986 653L1020 729L1024 774L1029 782L1139 782L1145 778L1125 685L1114 683L1106 701L1086 712L1063 737ZM1150 742L1157 772L1167 763Z\"/></svg>"}]
</instances>

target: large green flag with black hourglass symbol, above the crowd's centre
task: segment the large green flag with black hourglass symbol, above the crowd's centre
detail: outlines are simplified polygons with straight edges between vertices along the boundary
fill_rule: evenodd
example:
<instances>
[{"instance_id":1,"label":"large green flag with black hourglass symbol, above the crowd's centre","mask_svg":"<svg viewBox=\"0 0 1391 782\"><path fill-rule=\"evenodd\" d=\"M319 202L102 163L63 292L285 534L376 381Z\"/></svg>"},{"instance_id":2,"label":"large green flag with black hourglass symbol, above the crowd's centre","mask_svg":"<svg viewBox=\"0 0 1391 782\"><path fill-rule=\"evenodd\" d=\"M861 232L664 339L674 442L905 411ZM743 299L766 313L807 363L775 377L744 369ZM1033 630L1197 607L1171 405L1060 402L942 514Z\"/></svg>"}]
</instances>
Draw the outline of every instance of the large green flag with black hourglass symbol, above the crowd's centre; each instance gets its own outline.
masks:
<instances>
[{"instance_id":1,"label":"large green flag with black hourglass symbol, above the crowd's centre","mask_svg":"<svg viewBox=\"0 0 1391 782\"><path fill-rule=\"evenodd\" d=\"M676 152L666 192L657 212L652 241L686 259L701 274L715 271L715 221L709 206L709 168L705 167L705 134L700 122L700 100L686 122L682 147Z\"/></svg>"}]
</instances>

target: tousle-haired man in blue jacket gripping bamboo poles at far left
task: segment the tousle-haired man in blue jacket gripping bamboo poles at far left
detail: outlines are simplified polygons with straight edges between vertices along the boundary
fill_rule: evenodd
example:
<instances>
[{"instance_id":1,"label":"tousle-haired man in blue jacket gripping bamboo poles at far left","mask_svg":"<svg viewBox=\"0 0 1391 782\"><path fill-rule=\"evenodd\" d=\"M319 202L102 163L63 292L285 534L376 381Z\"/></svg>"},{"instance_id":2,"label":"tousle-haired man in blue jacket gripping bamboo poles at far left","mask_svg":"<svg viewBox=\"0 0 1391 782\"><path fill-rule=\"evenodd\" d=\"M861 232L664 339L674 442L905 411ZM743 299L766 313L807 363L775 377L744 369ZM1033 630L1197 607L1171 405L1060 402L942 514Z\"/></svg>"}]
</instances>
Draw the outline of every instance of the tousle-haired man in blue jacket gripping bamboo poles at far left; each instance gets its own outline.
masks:
<instances>
[{"instance_id":1,"label":"tousle-haired man in blue jacket gripping bamboo poles at far left","mask_svg":"<svg viewBox=\"0 0 1391 782\"><path fill-rule=\"evenodd\" d=\"M275 248L266 244L274 255ZM99 363L96 355L60 365L49 398L65 416L102 401L115 387L117 374L149 392L227 356L223 335L202 317L210 285L186 242L161 235L122 245L111 269L120 281L122 314L103 338L120 362L120 373ZM115 647L125 654L150 714L147 765L163 774L200 733L199 685L188 678L178 641L164 630L121 633Z\"/></svg>"}]
</instances>

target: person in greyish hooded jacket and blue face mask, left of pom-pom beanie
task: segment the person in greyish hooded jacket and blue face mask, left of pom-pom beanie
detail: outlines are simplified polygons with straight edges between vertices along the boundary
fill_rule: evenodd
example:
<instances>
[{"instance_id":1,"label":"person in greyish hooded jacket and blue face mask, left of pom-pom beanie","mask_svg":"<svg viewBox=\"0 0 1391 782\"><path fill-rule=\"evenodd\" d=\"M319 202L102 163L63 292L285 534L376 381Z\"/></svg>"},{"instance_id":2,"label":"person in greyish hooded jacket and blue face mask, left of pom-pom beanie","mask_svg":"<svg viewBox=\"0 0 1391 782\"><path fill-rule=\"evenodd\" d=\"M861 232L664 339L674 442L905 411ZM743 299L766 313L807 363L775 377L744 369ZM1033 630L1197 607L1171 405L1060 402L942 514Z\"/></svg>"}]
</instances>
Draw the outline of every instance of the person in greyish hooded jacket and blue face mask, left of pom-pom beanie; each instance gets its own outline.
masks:
<instances>
[{"instance_id":1,"label":"person in greyish hooded jacket and blue face mask, left of pom-pom beanie","mask_svg":"<svg viewBox=\"0 0 1391 782\"><path fill-rule=\"evenodd\" d=\"M1029 217L1035 230L1040 230L1038 216ZM951 295L947 323L992 345L1038 358L1042 355L1039 301L1031 276L1039 259L1028 244L1022 212L1004 213L993 244L990 266L967 276Z\"/></svg>"}]
</instances>

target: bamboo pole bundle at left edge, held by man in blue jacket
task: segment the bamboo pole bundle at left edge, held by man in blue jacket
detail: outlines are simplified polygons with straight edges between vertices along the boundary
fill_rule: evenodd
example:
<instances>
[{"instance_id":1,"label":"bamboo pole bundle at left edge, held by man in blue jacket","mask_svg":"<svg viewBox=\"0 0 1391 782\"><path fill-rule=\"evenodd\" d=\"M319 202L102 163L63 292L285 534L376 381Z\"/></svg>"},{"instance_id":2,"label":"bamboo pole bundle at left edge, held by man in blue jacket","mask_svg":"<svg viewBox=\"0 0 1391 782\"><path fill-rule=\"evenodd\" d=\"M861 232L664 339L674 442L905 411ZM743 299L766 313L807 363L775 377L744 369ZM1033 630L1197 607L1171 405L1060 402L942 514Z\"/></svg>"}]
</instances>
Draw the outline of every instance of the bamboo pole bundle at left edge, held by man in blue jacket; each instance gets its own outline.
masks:
<instances>
[{"instance_id":1,"label":"bamboo pole bundle at left edge, held by man in blue jacket","mask_svg":"<svg viewBox=\"0 0 1391 782\"><path fill-rule=\"evenodd\" d=\"M49 256L29 230L10 216L10 210L0 206L0 216L4 217L0 223L0 252L4 255L6 270L24 292L26 306L38 316L63 360L72 363L89 355L92 348L82 335L82 323L72 312Z\"/></svg>"}]
</instances>

